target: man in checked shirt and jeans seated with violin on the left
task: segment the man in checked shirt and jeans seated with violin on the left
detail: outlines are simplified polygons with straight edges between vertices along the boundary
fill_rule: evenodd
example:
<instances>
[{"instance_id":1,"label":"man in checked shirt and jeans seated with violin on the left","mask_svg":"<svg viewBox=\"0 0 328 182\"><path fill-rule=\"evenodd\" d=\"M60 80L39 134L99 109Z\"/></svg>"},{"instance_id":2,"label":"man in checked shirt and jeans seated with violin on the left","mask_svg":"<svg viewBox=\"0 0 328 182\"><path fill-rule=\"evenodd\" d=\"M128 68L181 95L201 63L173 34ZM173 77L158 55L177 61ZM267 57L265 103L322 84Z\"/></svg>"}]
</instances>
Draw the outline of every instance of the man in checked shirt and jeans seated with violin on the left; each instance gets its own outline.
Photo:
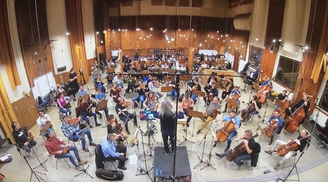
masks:
<instances>
[{"instance_id":1,"label":"man in checked shirt and jeans seated with violin on the left","mask_svg":"<svg viewBox=\"0 0 328 182\"><path fill-rule=\"evenodd\" d=\"M69 121L68 121L66 115L63 115L62 121L63 121L63 123L61 125L61 130L62 130L64 136L71 139L74 142L79 141L79 139L81 138L81 134L83 133L83 130L76 129L78 126L78 123L74 123L71 126L69 124ZM89 129L84 129L84 130L86 130L85 134L88 136L89 145L96 146L97 144L92 142L92 136L91 136L90 130ZM81 143L82 143L82 149L86 152L89 152L89 150L85 147L86 141L85 141L84 136L81 138Z\"/></svg>"}]
</instances>

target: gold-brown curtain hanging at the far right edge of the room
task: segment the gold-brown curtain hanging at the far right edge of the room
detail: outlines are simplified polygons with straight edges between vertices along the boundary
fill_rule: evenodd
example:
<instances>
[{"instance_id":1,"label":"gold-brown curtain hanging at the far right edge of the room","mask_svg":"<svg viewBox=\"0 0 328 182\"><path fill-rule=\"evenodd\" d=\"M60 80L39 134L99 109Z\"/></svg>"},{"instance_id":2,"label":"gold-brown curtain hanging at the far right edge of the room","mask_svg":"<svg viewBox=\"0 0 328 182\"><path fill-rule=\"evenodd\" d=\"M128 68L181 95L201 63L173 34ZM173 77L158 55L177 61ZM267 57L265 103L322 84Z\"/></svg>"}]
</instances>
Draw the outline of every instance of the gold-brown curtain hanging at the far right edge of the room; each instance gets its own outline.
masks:
<instances>
[{"instance_id":1,"label":"gold-brown curtain hanging at the far right edge of the room","mask_svg":"<svg viewBox=\"0 0 328 182\"><path fill-rule=\"evenodd\" d=\"M314 66L311 73L311 79L313 79L313 83L317 83L319 79L321 67L323 65L323 62L325 61L324 54L327 51L327 47L328 47L328 3L326 4L326 11L324 14L321 39L319 42L317 54L315 56ZM326 70L327 68L323 68L323 69ZM328 77L327 72L325 73L325 77L326 78Z\"/></svg>"}]
</instances>

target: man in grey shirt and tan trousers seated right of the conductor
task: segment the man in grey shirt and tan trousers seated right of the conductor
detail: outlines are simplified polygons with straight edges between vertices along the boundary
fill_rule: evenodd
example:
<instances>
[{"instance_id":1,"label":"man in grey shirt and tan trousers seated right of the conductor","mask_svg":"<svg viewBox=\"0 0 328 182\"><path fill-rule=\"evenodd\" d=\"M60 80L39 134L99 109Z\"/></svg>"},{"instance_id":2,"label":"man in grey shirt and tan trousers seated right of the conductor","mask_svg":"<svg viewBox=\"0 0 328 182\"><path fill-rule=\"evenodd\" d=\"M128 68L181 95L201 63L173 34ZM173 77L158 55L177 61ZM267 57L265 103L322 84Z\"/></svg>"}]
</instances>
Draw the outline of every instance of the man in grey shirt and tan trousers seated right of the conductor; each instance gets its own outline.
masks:
<instances>
[{"instance_id":1,"label":"man in grey shirt and tan trousers seated right of the conductor","mask_svg":"<svg viewBox=\"0 0 328 182\"><path fill-rule=\"evenodd\" d=\"M220 102L218 102L218 98L217 97L213 97L213 101L211 101L208 105L208 107L206 108L206 111L203 112L203 117L206 118L202 119L202 122L204 122L201 126L201 128L196 132L196 134L198 135L200 133L200 131L202 131L209 122L211 122L213 119L215 119L215 117L212 115L213 111L217 111L218 114L221 114L221 104Z\"/></svg>"}]
</instances>

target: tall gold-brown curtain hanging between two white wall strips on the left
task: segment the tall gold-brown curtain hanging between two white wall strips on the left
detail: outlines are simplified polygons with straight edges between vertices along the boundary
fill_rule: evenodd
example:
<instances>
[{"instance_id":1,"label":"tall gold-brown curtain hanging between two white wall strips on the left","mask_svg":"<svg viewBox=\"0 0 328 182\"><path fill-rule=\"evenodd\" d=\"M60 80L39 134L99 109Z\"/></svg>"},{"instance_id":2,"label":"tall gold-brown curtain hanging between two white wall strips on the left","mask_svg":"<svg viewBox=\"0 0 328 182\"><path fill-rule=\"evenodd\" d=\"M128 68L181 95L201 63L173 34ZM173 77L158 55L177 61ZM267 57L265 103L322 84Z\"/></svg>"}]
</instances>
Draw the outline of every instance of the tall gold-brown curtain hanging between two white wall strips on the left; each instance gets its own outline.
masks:
<instances>
[{"instance_id":1,"label":"tall gold-brown curtain hanging between two white wall strips on the left","mask_svg":"<svg viewBox=\"0 0 328 182\"><path fill-rule=\"evenodd\" d=\"M84 79L86 82L88 82L89 70L84 47L81 0L66 0L65 7L67 29L70 33L73 67L75 68L76 72L78 72L78 70L83 70ZM80 82L80 77L78 77L78 82Z\"/></svg>"}]
</instances>

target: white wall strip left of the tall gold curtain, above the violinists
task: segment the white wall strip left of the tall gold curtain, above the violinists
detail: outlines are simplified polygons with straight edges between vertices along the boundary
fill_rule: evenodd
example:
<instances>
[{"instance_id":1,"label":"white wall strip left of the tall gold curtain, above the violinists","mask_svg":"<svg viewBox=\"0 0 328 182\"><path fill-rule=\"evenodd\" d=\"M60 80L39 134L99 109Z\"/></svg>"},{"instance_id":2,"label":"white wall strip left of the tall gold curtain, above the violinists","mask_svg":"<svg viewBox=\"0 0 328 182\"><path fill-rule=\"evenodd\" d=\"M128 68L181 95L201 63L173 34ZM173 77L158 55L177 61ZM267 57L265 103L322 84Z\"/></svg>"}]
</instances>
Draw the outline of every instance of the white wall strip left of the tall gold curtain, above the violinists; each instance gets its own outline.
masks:
<instances>
[{"instance_id":1,"label":"white wall strip left of the tall gold curtain, above the violinists","mask_svg":"<svg viewBox=\"0 0 328 182\"><path fill-rule=\"evenodd\" d=\"M53 41L50 44L52 47L51 55L53 59L54 73L58 74L57 68L64 66L66 66L66 71L64 72L69 72L73 67L73 64L70 37L69 35L66 35L66 32L68 31L66 24L65 0L46 0L46 13L49 40L57 39L57 41Z\"/></svg>"}]
</instances>

